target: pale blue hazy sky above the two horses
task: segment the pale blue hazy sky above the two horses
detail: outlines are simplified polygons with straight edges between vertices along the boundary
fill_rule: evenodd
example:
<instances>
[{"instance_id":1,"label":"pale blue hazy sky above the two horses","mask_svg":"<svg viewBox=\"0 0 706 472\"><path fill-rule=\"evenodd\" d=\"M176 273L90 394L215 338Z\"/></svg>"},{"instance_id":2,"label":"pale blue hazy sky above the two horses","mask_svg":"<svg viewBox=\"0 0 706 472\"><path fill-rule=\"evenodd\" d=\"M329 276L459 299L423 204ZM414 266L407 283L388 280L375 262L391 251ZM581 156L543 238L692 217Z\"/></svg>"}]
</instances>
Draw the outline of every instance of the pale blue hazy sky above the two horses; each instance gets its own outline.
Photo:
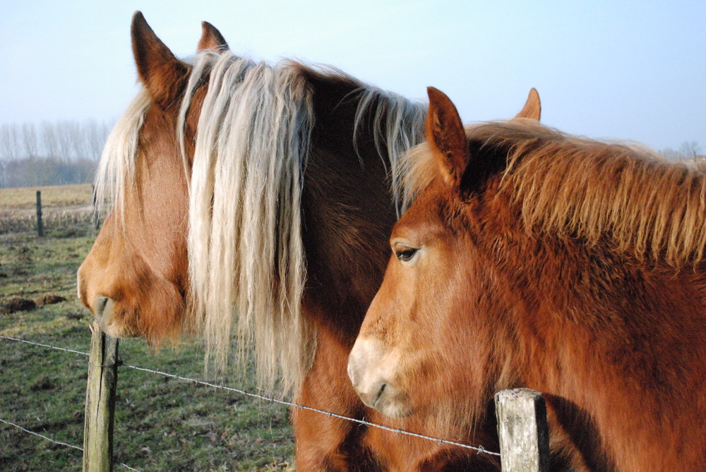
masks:
<instances>
[{"instance_id":1,"label":"pale blue hazy sky above the two horses","mask_svg":"<svg viewBox=\"0 0 706 472\"><path fill-rule=\"evenodd\" d=\"M234 52L333 64L463 121L509 118L530 87L542 121L656 149L706 147L706 1L0 0L0 123L115 120L136 92L141 10L177 56L201 20Z\"/></svg>"}]
</instances>

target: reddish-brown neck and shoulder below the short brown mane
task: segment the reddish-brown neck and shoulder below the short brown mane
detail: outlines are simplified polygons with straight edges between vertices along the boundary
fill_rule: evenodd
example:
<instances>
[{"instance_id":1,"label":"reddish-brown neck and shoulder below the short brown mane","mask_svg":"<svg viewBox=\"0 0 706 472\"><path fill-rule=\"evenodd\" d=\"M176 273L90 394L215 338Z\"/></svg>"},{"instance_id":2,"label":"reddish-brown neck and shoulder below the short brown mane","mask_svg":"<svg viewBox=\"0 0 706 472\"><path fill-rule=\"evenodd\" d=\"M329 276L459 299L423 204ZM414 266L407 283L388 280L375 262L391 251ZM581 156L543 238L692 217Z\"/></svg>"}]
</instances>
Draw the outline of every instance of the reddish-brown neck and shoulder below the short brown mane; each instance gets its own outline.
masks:
<instances>
[{"instance_id":1,"label":"reddish-brown neck and shoulder below the short brown mane","mask_svg":"<svg viewBox=\"0 0 706 472\"><path fill-rule=\"evenodd\" d=\"M487 258L479 270L493 272L489 289L508 294L498 314L508 364L517 366L508 379L548 394L596 470L611 463L616 470L678 470L703 460L703 428L690 433L686 412L704 416L706 400L694 405L676 393L706 385L702 272L650 266L605 242L532 235L522 226L522 202L503 195L485 201L472 219L482 228L474 244ZM679 445L658 447L670 434ZM690 434L696 439L686 440ZM582 437L599 437L606 454Z\"/></svg>"}]
</instances>

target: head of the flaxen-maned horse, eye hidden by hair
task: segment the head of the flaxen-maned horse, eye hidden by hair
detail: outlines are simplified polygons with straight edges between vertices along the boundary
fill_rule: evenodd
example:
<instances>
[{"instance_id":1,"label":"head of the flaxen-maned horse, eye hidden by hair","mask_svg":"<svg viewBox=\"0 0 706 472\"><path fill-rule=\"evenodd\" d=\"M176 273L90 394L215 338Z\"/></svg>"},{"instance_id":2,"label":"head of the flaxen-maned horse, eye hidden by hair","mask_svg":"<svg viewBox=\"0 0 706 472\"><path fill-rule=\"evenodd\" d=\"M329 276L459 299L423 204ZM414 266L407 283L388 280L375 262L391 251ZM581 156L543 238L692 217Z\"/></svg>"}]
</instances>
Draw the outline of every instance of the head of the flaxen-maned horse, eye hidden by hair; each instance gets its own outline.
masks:
<instances>
[{"instance_id":1,"label":"head of the flaxen-maned horse, eye hidden by hair","mask_svg":"<svg viewBox=\"0 0 706 472\"><path fill-rule=\"evenodd\" d=\"M227 49L213 25L203 22L202 28L198 52ZM119 191L78 270L78 295L107 334L144 336L159 344L181 331L188 304L188 156L193 155L200 92L185 117L183 150L176 123L192 66L172 54L140 12L133 16L131 36L143 91L133 102L136 112L118 123L104 150L103 171L112 165L113 170L124 166L124 172L99 182L99 188ZM121 136L129 133L132 143ZM107 157L121 151L134 158Z\"/></svg>"}]
</instances>

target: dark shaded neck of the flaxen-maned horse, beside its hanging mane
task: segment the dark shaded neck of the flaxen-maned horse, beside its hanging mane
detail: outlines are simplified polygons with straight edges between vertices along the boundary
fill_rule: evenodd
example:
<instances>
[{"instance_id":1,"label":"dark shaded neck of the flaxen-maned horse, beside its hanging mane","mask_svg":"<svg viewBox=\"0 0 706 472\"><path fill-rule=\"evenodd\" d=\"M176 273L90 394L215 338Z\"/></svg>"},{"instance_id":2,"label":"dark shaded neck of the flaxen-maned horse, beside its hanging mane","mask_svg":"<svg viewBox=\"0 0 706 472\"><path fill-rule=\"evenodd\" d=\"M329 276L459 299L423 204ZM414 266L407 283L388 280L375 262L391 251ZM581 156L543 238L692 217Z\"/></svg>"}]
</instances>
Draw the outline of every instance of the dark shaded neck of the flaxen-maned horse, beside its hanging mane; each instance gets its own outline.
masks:
<instances>
[{"instance_id":1,"label":"dark shaded neck of the flaxen-maned horse, beside its hanging mane","mask_svg":"<svg viewBox=\"0 0 706 472\"><path fill-rule=\"evenodd\" d=\"M316 123L302 195L305 305L352 339L382 282L396 220L388 155L376 147L369 116L355 126L359 84L310 80Z\"/></svg>"}]
</instances>

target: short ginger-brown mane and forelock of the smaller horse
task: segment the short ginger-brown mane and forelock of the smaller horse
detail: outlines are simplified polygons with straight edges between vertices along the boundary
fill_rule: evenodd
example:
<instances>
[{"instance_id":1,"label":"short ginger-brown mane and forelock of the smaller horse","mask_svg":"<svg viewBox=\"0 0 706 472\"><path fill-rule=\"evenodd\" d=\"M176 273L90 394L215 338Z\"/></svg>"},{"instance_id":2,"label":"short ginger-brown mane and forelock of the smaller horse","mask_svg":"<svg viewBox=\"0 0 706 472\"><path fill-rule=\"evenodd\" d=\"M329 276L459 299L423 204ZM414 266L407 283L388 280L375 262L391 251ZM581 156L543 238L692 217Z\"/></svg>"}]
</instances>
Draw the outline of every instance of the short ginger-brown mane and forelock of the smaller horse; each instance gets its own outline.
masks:
<instances>
[{"instance_id":1,"label":"short ginger-brown mane and forelock of the smaller horse","mask_svg":"<svg viewBox=\"0 0 706 472\"><path fill-rule=\"evenodd\" d=\"M466 135L472 155L503 161L500 190L520 205L530 231L593 244L608 237L618 250L674 267L702 261L702 163L670 163L640 145L579 138L526 119L468 126ZM407 201L438 173L428 149L423 143L405 157Z\"/></svg>"}]
</instances>

